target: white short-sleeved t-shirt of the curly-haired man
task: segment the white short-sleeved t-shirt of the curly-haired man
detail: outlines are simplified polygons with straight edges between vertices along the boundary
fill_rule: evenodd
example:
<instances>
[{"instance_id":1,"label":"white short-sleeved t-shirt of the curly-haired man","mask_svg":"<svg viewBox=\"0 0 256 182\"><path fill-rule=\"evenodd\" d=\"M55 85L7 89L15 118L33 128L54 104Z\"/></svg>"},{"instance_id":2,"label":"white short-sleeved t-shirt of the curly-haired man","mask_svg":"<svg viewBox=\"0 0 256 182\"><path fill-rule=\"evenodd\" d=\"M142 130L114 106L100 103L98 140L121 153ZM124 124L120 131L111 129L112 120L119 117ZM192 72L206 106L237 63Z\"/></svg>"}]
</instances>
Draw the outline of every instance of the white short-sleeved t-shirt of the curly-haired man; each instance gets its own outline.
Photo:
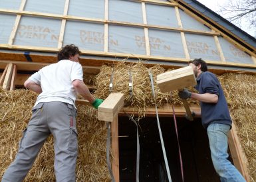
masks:
<instances>
[{"instance_id":1,"label":"white short-sleeved t-shirt of the curly-haired man","mask_svg":"<svg viewBox=\"0 0 256 182\"><path fill-rule=\"evenodd\" d=\"M61 101L74 105L76 91L72 85L75 79L82 79L82 66L70 60L61 60L45 66L29 77L41 85L42 93L37 97L35 106L41 102ZM34 107L35 107L34 106Z\"/></svg>"}]
</instances>

